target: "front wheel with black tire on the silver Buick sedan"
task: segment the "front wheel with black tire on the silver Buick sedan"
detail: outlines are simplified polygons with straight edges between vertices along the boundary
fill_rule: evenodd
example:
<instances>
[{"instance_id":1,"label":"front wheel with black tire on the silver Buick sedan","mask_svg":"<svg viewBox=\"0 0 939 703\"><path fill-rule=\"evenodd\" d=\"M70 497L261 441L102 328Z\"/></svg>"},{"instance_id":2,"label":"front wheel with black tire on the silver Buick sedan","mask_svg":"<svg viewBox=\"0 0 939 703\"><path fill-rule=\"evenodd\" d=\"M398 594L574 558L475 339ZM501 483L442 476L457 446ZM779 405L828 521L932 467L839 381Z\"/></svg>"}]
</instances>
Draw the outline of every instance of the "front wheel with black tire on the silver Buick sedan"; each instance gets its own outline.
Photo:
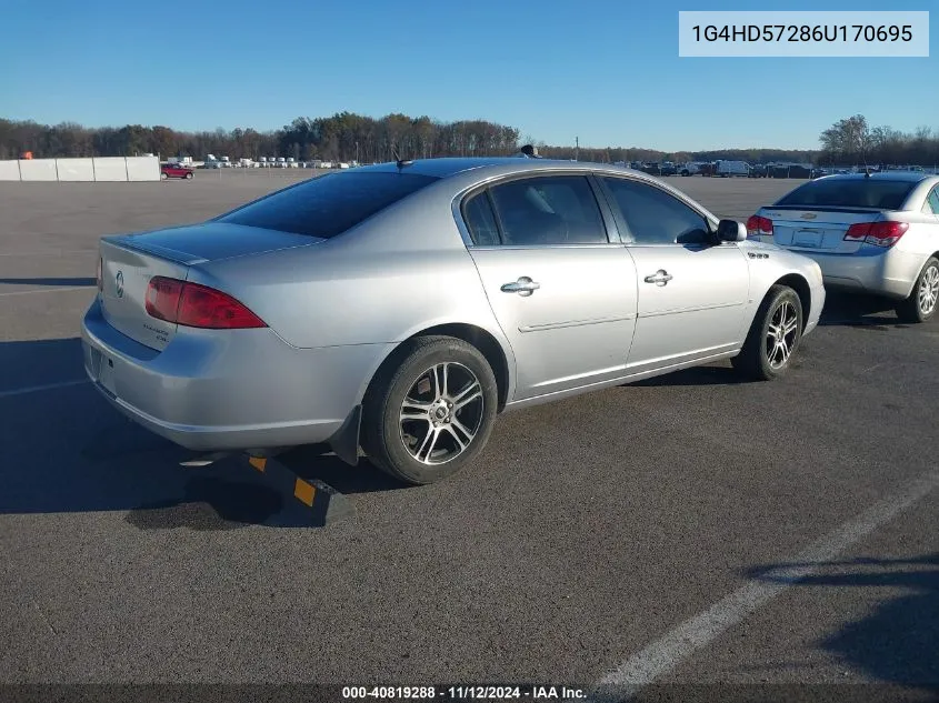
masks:
<instances>
[{"instance_id":1,"label":"front wheel with black tire on the silver Buick sedan","mask_svg":"<svg viewBox=\"0 0 939 703\"><path fill-rule=\"evenodd\" d=\"M783 312L780 312L785 309ZM780 320L780 315L783 317ZM791 332L786 332L783 339L789 350L785 359L781 359L781 349L769 350L770 327L786 323L793 315L796 327ZM788 285L773 285L769 289L766 298L753 318L753 324L743 342L743 349L731 359L733 368L740 375L752 381L772 381L778 379L789 369L792 356L799 351L799 343L802 340L802 303L798 293ZM781 361L781 363L777 363Z\"/></svg>"}]
</instances>

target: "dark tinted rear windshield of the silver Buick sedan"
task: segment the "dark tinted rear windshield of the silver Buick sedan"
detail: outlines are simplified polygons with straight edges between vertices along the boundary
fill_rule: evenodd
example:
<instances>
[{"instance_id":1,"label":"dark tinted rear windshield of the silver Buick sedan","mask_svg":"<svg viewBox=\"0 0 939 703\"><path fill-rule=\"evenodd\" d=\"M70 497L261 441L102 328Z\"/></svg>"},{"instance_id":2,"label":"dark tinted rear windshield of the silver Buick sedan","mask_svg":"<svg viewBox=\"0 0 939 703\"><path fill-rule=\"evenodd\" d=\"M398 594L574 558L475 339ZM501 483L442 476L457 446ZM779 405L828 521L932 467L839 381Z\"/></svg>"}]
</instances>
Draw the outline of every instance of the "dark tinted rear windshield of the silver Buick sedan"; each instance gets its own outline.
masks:
<instances>
[{"instance_id":1,"label":"dark tinted rear windshield of the silver Buick sedan","mask_svg":"<svg viewBox=\"0 0 939 703\"><path fill-rule=\"evenodd\" d=\"M413 173L329 173L217 219L328 239L438 180Z\"/></svg>"}]
</instances>

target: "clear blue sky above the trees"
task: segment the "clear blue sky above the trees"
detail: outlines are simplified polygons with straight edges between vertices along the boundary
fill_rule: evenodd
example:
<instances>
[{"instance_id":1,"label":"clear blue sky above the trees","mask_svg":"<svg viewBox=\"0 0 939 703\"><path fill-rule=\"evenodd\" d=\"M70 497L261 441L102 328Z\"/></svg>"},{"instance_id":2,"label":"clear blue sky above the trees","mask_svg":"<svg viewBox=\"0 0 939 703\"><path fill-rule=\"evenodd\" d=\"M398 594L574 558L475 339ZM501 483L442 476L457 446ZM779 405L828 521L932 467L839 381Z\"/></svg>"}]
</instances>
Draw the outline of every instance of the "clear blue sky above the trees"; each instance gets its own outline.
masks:
<instances>
[{"instance_id":1,"label":"clear blue sky above the trees","mask_svg":"<svg viewBox=\"0 0 939 703\"><path fill-rule=\"evenodd\" d=\"M679 58L679 10L882 1L3 0L0 117L274 129L349 110L488 119L551 144L807 148L840 118L939 129L931 58Z\"/></svg>"}]
</instances>

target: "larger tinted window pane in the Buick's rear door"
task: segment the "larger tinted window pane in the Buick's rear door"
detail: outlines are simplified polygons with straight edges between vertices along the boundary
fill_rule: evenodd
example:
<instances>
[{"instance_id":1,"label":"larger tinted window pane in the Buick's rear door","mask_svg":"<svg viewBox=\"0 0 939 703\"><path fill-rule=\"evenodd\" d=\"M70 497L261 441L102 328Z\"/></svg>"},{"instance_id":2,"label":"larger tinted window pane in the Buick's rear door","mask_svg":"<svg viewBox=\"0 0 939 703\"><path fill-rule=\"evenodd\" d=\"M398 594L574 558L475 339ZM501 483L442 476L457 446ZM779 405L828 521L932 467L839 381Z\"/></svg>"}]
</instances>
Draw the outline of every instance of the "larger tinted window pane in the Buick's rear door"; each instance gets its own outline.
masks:
<instances>
[{"instance_id":1,"label":"larger tinted window pane in the Buick's rear door","mask_svg":"<svg viewBox=\"0 0 939 703\"><path fill-rule=\"evenodd\" d=\"M508 247L606 244L600 207L585 175L547 175L490 189Z\"/></svg>"}]
</instances>

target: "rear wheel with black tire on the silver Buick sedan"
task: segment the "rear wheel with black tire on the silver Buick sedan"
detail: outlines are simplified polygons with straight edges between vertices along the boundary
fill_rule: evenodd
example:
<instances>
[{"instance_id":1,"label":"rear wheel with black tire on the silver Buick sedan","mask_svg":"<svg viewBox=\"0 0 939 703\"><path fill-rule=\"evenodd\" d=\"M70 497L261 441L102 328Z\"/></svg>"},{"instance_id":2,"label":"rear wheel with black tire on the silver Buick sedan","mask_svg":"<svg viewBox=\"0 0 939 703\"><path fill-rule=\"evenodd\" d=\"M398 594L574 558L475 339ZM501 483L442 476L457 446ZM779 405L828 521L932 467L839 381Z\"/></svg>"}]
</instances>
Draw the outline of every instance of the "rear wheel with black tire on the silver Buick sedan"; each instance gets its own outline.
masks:
<instances>
[{"instance_id":1,"label":"rear wheel with black tire on the silver Buick sedan","mask_svg":"<svg viewBox=\"0 0 939 703\"><path fill-rule=\"evenodd\" d=\"M458 385L457 391L441 383L442 371L437 372L436 381L431 378L431 371L443 364L448 364L448 376L450 383ZM478 401L457 410L453 401L472 389L473 380L479 385ZM437 392L439 385L444 386L444 393ZM432 410L428 410L427 418L421 414L420 418L402 420L406 398L424 401ZM496 421L498 398L496 375L478 349L451 337L417 338L392 354L366 393L362 449L376 466L400 481L412 485L440 481L472 463L486 448ZM446 406L448 403L449 408ZM446 419L443 412L447 413ZM437 425L431 419L439 420L438 430L434 430ZM470 438L468 432L457 428L475 432ZM467 441L467 438L470 440ZM431 452L437 450L437 454L429 453L427 461L418 459L431 439L429 449ZM437 449L438 441L441 449ZM464 449L458 451L460 442L464 443ZM450 451L452 456L447 459L446 453L440 453L446 451Z\"/></svg>"}]
</instances>

